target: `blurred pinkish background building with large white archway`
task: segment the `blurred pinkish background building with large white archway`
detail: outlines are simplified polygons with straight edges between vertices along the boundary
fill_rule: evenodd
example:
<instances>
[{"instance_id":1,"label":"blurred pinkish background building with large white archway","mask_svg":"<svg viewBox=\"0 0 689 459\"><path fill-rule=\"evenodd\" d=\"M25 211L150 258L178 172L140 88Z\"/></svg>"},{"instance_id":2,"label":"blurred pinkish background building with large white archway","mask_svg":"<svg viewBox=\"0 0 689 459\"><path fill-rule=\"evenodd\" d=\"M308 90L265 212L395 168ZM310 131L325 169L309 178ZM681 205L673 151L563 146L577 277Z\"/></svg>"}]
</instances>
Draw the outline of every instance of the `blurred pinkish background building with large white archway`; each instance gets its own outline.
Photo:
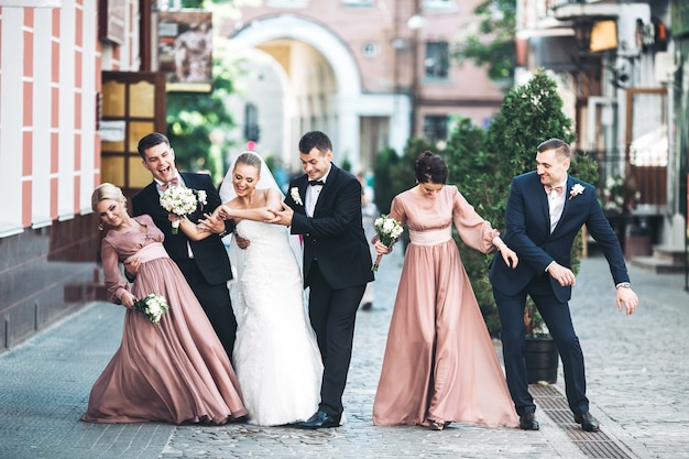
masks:
<instances>
[{"instance_id":1,"label":"blurred pinkish background building with large white archway","mask_svg":"<svg viewBox=\"0 0 689 459\"><path fill-rule=\"evenodd\" d=\"M219 22L247 56L234 107L240 124L258 110L256 151L298 168L296 144L327 132L335 159L370 170L385 147L402 154L411 135L442 142L451 117L486 125L504 87L484 68L452 58L475 32L478 0L269 0Z\"/></svg>"}]
</instances>

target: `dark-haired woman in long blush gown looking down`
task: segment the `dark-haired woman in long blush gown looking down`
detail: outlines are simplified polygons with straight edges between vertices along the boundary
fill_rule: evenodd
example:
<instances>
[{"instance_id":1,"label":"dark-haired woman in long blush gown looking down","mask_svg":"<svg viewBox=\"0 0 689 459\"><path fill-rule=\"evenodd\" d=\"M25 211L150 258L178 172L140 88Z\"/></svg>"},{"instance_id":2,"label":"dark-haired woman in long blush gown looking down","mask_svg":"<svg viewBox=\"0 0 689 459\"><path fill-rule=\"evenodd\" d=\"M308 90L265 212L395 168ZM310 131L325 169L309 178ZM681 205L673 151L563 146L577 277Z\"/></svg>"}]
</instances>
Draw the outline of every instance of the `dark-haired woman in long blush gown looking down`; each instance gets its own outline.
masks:
<instances>
[{"instance_id":1,"label":"dark-haired woman in long blush gown looking down","mask_svg":"<svg viewBox=\"0 0 689 459\"><path fill-rule=\"evenodd\" d=\"M424 152L417 185L397 195L390 217L409 229L402 276L373 405L375 425L451 422L516 427L514 405L469 277L452 239L483 253L516 254L458 192L442 159ZM387 248L374 238L379 254Z\"/></svg>"}]
</instances>

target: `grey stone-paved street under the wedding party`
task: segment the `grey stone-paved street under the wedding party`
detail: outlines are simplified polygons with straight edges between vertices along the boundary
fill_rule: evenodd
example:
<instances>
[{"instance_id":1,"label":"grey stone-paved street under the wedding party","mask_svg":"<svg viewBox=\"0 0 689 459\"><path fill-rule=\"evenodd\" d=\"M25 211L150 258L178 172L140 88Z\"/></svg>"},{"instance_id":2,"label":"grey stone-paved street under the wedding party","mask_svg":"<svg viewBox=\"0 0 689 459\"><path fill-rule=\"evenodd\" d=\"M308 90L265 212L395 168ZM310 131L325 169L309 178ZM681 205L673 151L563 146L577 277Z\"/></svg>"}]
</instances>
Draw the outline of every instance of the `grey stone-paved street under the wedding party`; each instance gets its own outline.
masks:
<instances>
[{"instance_id":1,"label":"grey stone-paved street under the wedding party","mask_svg":"<svg viewBox=\"0 0 689 459\"><path fill-rule=\"evenodd\" d=\"M123 309L95 303L0 354L0 459L620 457L587 455L545 408L535 433L459 424L445 431L373 426L398 252L383 260L374 306L358 316L344 426L307 431L245 424L81 423L90 386L122 332ZM603 259L584 260L577 281L572 315L587 358L591 411L603 434L624 451L622 457L689 458L689 295L683 275L631 274L642 296L633 317L617 313ZM554 390L564 393L561 374Z\"/></svg>"}]
</instances>

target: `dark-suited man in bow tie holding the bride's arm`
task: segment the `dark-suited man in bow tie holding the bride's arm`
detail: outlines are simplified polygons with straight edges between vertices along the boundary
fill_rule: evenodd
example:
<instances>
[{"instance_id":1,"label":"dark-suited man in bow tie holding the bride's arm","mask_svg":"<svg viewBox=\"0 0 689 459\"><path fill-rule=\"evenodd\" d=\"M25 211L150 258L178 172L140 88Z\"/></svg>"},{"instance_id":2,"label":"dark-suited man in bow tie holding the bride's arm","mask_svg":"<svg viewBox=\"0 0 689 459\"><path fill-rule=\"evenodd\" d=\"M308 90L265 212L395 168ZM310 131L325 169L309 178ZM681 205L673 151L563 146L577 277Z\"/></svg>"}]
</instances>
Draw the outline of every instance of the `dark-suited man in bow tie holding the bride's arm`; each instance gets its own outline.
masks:
<instances>
[{"instance_id":1,"label":"dark-suited man in bow tie holding the bride's arm","mask_svg":"<svg viewBox=\"0 0 689 459\"><path fill-rule=\"evenodd\" d=\"M309 318L324 362L318 411L299 425L337 427L357 309L373 281L371 252L361 223L361 184L331 163L330 139L319 131L304 134L299 156L306 174L289 183L283 211L271 222L304 237L304 286L310 287Z\"/></svg>"}]
</instances>

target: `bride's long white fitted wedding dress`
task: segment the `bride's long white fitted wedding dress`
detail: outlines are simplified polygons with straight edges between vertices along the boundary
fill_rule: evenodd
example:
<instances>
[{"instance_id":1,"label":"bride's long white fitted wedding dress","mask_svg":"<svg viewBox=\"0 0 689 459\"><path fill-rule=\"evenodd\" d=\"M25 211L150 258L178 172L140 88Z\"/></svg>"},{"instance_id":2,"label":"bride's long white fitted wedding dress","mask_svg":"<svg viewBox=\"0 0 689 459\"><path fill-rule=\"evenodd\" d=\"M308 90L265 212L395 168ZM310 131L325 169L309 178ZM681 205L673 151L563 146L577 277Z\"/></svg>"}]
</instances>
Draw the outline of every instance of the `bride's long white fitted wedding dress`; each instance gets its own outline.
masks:
<instances>
[{"instance_id":1,"label":"bride's long white fitted wedding dress","mask_svg":"<svg viewBox=\"0 0 689 459\"><path fill-rule=\"evenodd\" d=\"M276 426L308 419L320 400L322 363L304 302L302 274L280 225L242 220L250 240L231 250L237 281L233 362L250 424Z\"/></svg>"}]
</instances>

